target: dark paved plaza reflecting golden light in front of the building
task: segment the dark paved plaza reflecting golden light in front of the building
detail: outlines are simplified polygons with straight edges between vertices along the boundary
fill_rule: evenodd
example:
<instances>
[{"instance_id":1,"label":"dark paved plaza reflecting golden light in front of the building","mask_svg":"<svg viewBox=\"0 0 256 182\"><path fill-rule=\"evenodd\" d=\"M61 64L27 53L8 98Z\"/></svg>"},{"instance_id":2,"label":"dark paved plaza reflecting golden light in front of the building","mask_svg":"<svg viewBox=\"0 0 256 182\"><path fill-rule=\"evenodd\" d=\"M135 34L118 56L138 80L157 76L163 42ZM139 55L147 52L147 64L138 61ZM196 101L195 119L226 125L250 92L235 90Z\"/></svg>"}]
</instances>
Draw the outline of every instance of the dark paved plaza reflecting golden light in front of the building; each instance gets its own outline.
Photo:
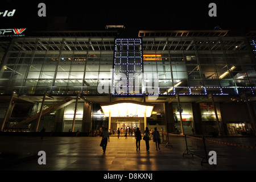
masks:
<instances>
[{"instance_id":1,"label":"dark paved plaza reflecting golden light in front of the building","mask_svg":"<svg viewBox=\"0 0 256 182\"><path fill-rule=\"evenodd\" d=\"M160 144L150 150L141 140L136 150L134 137L110 137L106 152L100 137L17 137L0 136L1 170L5 171L234 171L255 170L256 149L205 142L207 152L216 151L217 164L201 165L200 156L184 155L184 137L169 137L169 146ZM255 147L255 137L209 138L221 142ZM188 139L195 154L204 155L201 140ZM172 145L172 146L171 146ZM46 152L46 164L38 164L38 152ZM206 160L205 160L206 161Z\"/></svg>"}]
</instances>

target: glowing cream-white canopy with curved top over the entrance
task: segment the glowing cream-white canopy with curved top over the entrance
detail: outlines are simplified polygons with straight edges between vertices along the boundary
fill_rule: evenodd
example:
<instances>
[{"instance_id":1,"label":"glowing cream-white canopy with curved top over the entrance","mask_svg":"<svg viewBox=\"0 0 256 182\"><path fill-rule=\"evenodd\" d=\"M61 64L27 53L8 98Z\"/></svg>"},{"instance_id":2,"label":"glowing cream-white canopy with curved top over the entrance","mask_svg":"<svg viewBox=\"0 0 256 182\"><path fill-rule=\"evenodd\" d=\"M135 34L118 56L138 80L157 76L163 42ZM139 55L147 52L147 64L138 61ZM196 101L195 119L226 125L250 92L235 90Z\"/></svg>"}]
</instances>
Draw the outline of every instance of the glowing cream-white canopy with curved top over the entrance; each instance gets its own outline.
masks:
<instances>
[{"instance_id":1,"label":"glowing cream-white canopy with curved top over the entrance","mask_svg":"<svg viewBox=\"0 0 256 182\"><path fill-rule=\"evenodd\" d=\"M106 117L150 117L154 105L144 105L136 102L118 102L110 105L101 105Z\"/></svg>"}]
</instances>

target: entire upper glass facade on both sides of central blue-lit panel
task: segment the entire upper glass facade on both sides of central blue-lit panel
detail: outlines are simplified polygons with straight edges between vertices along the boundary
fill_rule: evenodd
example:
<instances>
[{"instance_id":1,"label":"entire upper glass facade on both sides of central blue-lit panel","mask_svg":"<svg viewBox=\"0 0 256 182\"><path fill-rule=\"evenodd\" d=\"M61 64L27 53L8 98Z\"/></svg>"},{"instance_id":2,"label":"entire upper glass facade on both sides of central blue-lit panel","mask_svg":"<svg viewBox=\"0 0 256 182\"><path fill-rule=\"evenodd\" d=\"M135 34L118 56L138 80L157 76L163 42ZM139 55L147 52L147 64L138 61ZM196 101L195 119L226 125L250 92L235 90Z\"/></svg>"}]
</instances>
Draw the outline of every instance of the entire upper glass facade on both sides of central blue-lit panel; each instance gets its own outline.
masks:
<instances>
[{"instance_id":1,"label":"entire upper glass facade on both sides of central blue-lit panel","mask_svg":"<svg viewBox=\"0 0 256 182\"><path fill-rule=\"evenodd\" d=\"M160 95L255 92L249 42L229 37L17 38L2 61L0 92L99 94L97 86L108 82L105 93L110 93L111 84L126 84L130 86L123 92L142 94L147 87L142 73L152 78L158 74ZM125 82L120 81L122 74Z\"/></svg>"}]
</instances>

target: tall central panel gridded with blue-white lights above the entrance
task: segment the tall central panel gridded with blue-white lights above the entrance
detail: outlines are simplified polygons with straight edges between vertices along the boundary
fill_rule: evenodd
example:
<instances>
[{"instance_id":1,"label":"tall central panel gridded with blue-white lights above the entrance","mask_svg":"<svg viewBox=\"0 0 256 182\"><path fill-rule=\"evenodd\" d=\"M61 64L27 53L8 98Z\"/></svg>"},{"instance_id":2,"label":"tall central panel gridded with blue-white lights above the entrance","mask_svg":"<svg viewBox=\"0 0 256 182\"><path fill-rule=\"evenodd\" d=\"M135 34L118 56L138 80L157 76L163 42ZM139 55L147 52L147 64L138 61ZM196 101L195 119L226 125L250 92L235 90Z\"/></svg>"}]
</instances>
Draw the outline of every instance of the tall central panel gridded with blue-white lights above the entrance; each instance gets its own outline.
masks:
<instances>
[{"instance_id":1,"label":"tall central panel gridded with blue-white lights above the entrance","mask_svg":"<svg viewBox=\"0 0 256 182\"><path fill-rule=\"evenodd\" d=\"M113 94L142 94L141 39L115 39Z\"/></svg>"}]
</instances>

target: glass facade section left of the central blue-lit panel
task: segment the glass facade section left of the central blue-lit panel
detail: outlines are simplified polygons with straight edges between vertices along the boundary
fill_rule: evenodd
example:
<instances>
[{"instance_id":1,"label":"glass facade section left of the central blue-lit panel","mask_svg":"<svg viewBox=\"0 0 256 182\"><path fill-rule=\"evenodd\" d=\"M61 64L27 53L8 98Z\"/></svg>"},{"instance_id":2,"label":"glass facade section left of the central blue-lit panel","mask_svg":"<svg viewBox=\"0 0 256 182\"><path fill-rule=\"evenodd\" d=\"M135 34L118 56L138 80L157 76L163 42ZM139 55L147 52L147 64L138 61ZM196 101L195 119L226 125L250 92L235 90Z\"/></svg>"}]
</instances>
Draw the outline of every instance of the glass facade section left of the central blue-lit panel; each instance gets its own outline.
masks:
<instances>
[{"instance_id":1,"label":"glass facade section left of the central blue-lit panel","mask_svg":"<svg viewBox=\"0 0 256 182\"><path fill-rule=\"evenodd\" d=\"M13 39L0 71L0 92L97 94L111 79L114 38Z\"/></svg>"}]
</instances>

